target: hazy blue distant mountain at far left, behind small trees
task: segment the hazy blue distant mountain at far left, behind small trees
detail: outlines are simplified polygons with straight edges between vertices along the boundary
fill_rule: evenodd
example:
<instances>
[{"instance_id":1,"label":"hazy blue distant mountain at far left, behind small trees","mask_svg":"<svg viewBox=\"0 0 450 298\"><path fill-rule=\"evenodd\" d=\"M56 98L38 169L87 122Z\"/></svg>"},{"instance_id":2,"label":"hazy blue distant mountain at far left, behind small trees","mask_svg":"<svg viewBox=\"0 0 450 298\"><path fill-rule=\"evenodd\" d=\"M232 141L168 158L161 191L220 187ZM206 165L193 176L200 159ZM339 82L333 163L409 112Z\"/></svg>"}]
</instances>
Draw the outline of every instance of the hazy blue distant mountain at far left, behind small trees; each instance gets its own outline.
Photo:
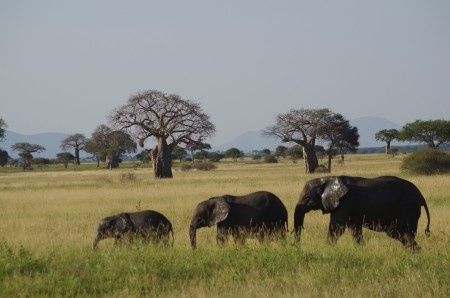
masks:
<instances>
[{"instance_id":1,"label":"hazy blue distant mountain at far left, behind small trees","mask_svg":"<svg viewBox=\"0 0 450 298\"><path fill-rule=\"evenodd\" d=\"M56 153L61 152L59 146L61 141L68 135L57 132L38 133L33 135L25 135L7 130L5 133L5 139L0 143L0 148L8 151L11 157L16 158L17 152L11 150L11 146L19 142L27 142L31 144L38 144L45 147L45 151L41 153L33 154L35 157L47 157L54 158Z\"/></svg>"}]
</instances>

